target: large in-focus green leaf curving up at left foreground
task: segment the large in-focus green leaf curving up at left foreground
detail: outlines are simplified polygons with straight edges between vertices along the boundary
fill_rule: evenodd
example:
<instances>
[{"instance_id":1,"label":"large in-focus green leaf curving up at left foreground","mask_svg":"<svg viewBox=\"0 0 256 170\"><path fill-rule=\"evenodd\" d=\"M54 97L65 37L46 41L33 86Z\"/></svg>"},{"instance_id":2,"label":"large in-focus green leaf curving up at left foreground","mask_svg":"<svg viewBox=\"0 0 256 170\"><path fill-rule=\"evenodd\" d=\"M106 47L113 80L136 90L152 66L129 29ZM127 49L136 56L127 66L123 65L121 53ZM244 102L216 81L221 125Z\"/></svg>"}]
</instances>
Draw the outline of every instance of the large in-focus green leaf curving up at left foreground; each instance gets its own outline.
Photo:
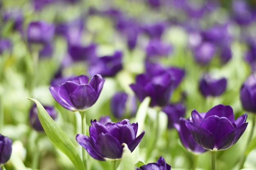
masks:
<instances>
[{"instance_id":1,"label":"large in-focus green leaf curving up at left foreground","mask_svg":"<svg viewBox=\"0 0 256 170\"><path fill-rule=\"evenodd\" d=\"M49 116L45 108L36 99L28 98L36 103L38 118L45 130L47 137L52 144L63 152L72 161L76 170L85 170L83 161L79 156L74 144L70 141L67 135L61 130L56 122Z\"/></svg>"}]
</instances>

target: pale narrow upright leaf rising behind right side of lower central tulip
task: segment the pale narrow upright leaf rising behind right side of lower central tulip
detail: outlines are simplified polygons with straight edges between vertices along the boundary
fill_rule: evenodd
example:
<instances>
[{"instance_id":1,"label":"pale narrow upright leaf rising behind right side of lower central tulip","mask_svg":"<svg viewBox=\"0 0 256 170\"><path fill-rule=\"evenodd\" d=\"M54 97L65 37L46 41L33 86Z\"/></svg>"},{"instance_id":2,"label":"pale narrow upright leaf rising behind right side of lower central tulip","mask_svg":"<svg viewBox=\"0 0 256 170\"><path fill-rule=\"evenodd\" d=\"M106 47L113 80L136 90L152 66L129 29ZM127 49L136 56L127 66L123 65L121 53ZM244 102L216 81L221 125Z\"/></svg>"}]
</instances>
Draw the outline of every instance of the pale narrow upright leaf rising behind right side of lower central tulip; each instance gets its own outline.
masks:
<instances>
[{"instance_id":1,"label":"pale narrow upright leaf rising behind right side of lower central tulip","mask_svg":"<svg viewBox=\"0 0 256 170\"><path fill-rule=\"evenodd\" d=\"M136 113L135 122L137 122L139 125L138 133L142 131L142 128L144 126L149 103L150 103L150 97L146 97L139 105L138 111Z\"/></svg>"}]
</instances>

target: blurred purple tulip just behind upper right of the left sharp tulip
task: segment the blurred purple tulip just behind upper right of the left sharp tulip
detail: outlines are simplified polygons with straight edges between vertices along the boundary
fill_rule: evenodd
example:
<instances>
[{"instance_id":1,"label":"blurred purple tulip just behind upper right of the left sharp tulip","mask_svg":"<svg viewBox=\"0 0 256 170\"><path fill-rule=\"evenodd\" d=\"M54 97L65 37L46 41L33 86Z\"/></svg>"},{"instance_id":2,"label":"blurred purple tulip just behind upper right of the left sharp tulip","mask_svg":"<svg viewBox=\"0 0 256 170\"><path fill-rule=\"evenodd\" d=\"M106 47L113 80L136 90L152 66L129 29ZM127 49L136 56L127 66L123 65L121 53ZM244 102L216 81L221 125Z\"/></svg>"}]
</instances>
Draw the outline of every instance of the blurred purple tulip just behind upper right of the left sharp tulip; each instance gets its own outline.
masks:
<instances>
[{"instance_id":1,"label":"blurred purple tulip just behind upper right of the left sharp tulip","mask_svg":"<svg viewBox=\"0 0 256 170\"><path fill-rule=\"evenodd\" d=\"M123 53L121 51L116 51L112 56L103 56L90 64L89 72L90 75L100 74L102 77L113 77L121 69L123 69L122 64Z\"/></svg>"}]
</instances>

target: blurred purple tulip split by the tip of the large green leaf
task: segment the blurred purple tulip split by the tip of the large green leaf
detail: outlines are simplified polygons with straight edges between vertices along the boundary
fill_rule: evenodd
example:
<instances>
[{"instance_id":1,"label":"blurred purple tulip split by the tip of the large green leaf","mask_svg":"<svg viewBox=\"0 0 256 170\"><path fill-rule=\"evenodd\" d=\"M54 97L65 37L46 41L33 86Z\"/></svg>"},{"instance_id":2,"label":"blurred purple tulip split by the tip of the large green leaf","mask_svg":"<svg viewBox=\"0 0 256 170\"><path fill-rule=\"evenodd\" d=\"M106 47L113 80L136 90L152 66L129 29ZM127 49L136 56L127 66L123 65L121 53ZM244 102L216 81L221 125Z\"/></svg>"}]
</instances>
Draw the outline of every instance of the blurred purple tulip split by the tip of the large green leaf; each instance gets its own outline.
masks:
<instances>
[{"instance_id":1,"label":"blurred purple tulip split by the tip of the large green leaf","mask_svg":"<svg viewBox=\"0 0 256 170\"><path fill-rule=\"evenodd\" d=\"M46 112L49 114L50 117L52 117L52 119L56 119L57 117L57 112L54 109L53 106L43 106L46 110ZM41 125L39 118L38 118L38 114L37 114L37 107L36 104L34 104L29 111L29 122L30 125L39 132L43 132L43 126Z\"/></svg>"}]
</instances>

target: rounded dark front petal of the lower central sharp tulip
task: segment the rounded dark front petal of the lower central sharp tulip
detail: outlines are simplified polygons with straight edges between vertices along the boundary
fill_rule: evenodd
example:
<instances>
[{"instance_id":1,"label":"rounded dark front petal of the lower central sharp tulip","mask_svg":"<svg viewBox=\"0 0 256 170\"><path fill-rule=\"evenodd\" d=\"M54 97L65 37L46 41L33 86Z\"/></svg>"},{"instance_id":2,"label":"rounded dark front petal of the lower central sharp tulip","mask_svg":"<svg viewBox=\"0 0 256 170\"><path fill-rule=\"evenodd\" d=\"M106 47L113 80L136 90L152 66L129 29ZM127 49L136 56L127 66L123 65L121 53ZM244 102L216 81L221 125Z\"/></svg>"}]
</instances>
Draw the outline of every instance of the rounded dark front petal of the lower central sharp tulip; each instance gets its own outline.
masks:
<instances>
[{"instance_id":1,"label":"rounded dark front petal of the lower central sharp tulip","mask_svg":"<svg viewBox=\"0 0 256 170\"><path fill-rule=\"evenodd\" d=\"M119 159L123 153L123 147L119 141L109 133L99 134L95 149L102 157L109 159Z\"/></svg>"}]
</instances>

